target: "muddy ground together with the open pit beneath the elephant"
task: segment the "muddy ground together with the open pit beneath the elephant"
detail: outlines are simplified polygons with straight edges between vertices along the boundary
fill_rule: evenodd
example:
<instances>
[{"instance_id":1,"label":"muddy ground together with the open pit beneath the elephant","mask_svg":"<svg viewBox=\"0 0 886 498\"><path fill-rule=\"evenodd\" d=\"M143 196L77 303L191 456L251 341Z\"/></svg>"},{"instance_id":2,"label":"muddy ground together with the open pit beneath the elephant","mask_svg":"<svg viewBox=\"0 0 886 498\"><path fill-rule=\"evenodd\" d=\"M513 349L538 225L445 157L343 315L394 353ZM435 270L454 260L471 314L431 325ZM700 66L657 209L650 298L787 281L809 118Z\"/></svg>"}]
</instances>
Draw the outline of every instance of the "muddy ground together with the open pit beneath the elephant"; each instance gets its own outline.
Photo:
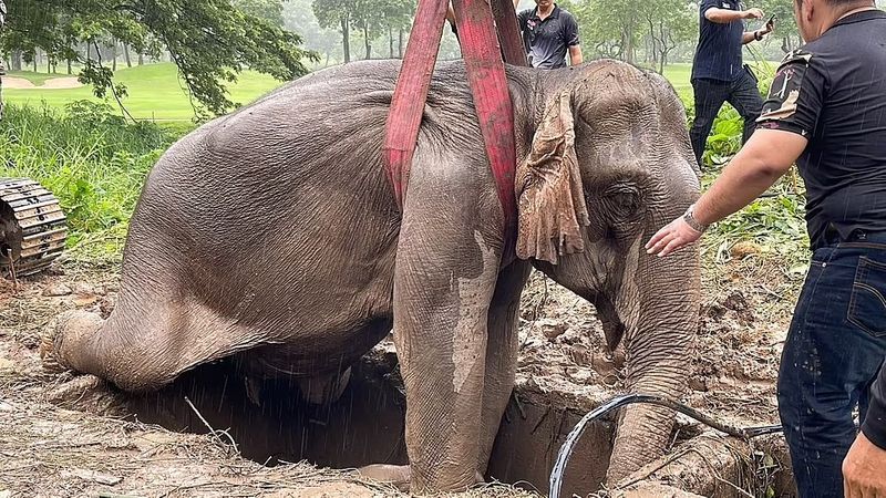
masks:
<instances>
[{"instance_id":1,"label":"muddy ground together with the open pit beneath the elephant","mask_svg":"<svg viewBox=\"0 0 886 498\"><path fill-rule=\"evenodd\" d=\"M759 261L740 264L705 276L714 292L702 309L688 401L734 425L770 424L775 422L773 365L786 329L781 307L794 283L773 279ZM0 395L8 402L0 405L0 454L6 457L0 459L0 492L398 496L352 473L302 463L339 469L405 463L404 402L390 345L364 357L341 400L326 407L300 404L295 386L286 383L265 384L257 394L231 362L206 365L141 397L122 395L91 377L44 374L35 357L39 330L63 309L107 314L116 278L113 266L103 271L101 266L66 262L55 274L2 294ZM753 279L764 282L764 289ZM591 307L539 274L523 304L517 387L487 476L516 488L484 487L472 491L474 496L525 496L521 489L547 494L550 468L568 432L585 413L620 393L618 364L604 352ZM100 426L104 428L96 430ZM606 492L600 485L614 427L610 418L585 434L566 471L565 496ZM81 440L84 435L92 436ZM165 442L159 446L166 452L156 444L143 448L145 438ZM156 471L140 477L145 468ZM38 478L40 486L24 476ZM681 417L664 457L624 484L609 494L794 496L779 436L748 444Z\"/></svg>"}]
</instances>

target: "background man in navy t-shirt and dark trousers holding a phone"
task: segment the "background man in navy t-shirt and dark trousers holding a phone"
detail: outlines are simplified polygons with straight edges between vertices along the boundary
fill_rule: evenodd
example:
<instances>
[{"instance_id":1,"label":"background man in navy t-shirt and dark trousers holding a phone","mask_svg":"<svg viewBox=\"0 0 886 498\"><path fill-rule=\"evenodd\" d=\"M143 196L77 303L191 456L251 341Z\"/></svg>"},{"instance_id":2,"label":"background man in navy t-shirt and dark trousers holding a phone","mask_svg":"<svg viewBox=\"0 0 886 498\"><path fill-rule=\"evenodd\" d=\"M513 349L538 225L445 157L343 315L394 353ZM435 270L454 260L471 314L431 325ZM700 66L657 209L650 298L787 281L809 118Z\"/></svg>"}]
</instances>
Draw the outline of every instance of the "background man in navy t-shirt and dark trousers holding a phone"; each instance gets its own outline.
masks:
<instances>
[{"instance_id":1,"label":"background man in navy t-shirt and dark trousers holding a phone","mask_svg":"<svg viewBox=\"0 0 886 498\"><path fill-rule=\"evenodd\" d=\"M760 9L742 10L739 0L703 0L699 8L699 45L692 64L692 89L696 93L696 121L690 136L696 160L701 165L704 144L713 120L724 102L729 102L744 120L743 143L754 132L763 98L756 77L742 63L742 46L772 32L767 23L758 31L745 32L745 19L762 19Z\"/></svg>"}]
</instances>

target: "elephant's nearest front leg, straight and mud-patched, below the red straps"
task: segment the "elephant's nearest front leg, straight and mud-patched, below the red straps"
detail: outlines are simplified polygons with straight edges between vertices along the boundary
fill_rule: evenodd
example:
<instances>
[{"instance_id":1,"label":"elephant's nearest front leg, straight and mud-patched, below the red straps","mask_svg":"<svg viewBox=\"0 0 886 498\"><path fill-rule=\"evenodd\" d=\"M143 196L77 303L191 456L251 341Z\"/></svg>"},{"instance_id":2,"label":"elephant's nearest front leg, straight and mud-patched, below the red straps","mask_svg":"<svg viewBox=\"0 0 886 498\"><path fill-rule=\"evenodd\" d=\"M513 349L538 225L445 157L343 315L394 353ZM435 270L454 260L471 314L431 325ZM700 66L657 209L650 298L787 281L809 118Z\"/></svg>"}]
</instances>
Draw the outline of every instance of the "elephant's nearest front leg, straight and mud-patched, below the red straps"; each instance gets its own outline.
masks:
<instances>
[{"instance_id":1,"label":"elephant's nearest front leg, straight and mud-patched, below the red straps","mask_svg":"<svg viewBox=\"0 0 886 498\"><path fill-rule=\"evenodd\" d=\"M406 203L394 271L410 489L457 491L476 483L481 457L486 320L501 236L482 226L490 219L478 216L482 199L456 204L444 188L413 185L410 196L423 200Z\"/></svg>"}]
</instances>

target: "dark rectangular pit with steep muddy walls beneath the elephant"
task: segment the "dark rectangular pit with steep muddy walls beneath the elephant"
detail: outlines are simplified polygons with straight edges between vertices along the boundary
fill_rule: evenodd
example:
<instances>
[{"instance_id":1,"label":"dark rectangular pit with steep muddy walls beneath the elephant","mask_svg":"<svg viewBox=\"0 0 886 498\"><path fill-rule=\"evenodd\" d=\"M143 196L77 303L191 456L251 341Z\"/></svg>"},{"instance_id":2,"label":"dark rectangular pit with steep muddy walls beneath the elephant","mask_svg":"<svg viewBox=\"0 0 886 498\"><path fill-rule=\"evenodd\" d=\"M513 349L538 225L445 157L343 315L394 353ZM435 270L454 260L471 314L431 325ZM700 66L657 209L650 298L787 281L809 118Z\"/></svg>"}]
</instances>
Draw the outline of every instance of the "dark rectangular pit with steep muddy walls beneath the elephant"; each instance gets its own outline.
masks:
<instances>
[{"instance_id":1,"label":"dark rectangular pit with steep muddy walls beneath the elephant","mask_svg":"<svg viewBox=\"0 0 886 498\"><path fill-rule=\"evenodd\" d=\"M202 416L214 429L227 430L244 457L269 466L308 460L356 468L408 461L405 400L392 354L363 359L339 401L326 406L301 402L298 386L289 382L265 381L256 396L233 361L204 365L159 392L127 396L125 406L140 422L176 432L208 433ZM557 452L580 417L578 412L512 398L486 477L547 494ZM607 422L586 433L567 469L565 491L586 495L599 489L612 432Z\"/></svg>"}]
</instances>

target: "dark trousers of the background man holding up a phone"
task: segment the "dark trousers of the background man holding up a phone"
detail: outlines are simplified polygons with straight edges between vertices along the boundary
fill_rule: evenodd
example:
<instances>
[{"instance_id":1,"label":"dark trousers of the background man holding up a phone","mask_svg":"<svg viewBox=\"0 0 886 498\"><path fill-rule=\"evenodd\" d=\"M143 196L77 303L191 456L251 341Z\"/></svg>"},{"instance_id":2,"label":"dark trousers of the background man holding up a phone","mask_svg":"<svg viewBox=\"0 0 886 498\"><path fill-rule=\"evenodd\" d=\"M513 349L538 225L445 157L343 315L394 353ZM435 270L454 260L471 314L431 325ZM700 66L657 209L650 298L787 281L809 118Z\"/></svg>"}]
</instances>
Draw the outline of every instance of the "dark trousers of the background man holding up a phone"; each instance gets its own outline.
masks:
<instances>
[{"instance_id":1,"label":"dark trousers of the background man holding up a phone","mask_svg":"<svg viewBox=\"0 0 886 498\"><path fill-rule=\"evenodd\" d=\"M723 103L732 104L744 120L743 144L751 138L756 128L756 118L763 111L763 97L760 96L760 90L756 87L756 77L748 69L742 70L734 81L692 80L692 91L696 94L696 121L692 122L689 137L692 142L692 151L696 153L696 160L701 166L701 156L704 155L708 135L711 134L713 121L720 113Z\"/></svg>"}]
</instances>

